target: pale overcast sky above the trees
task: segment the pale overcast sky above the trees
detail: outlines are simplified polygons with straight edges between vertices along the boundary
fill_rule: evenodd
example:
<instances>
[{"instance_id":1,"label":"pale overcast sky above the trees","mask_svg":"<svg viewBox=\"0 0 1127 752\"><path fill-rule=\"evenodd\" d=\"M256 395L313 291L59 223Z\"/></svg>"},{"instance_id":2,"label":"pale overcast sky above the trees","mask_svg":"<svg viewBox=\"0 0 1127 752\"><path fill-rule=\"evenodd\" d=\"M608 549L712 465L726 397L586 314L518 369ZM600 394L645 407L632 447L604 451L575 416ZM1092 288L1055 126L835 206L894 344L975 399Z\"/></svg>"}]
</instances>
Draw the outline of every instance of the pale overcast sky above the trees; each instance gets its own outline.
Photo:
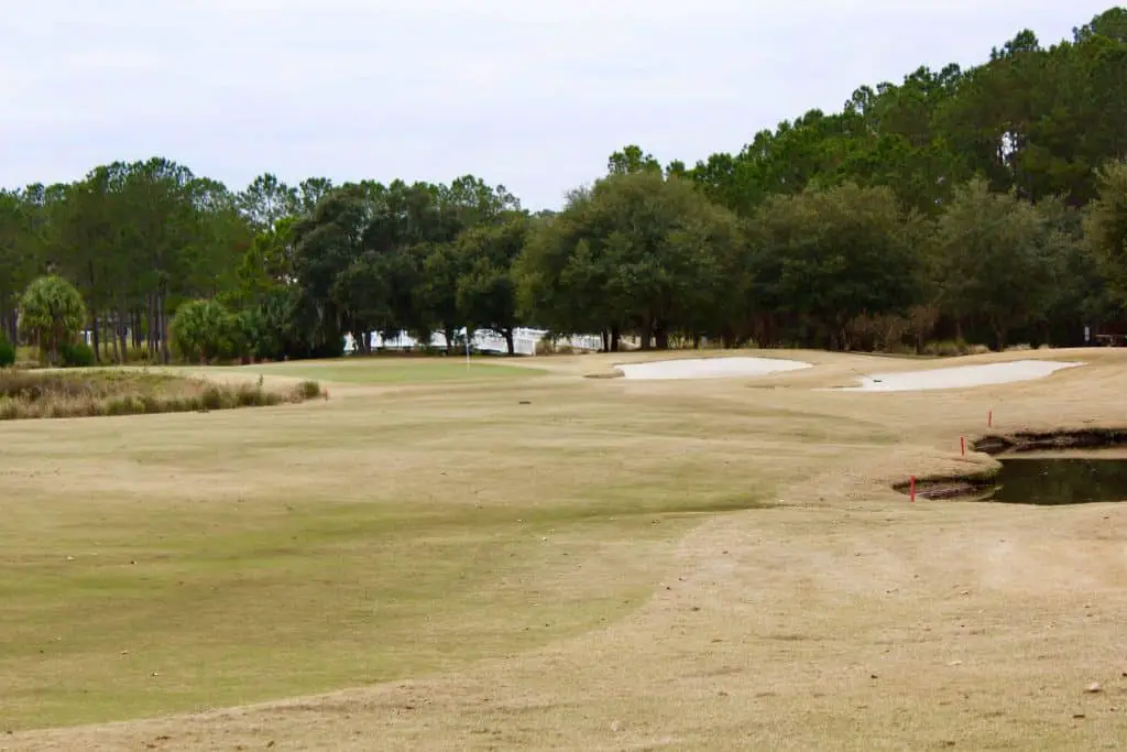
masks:
<instances>
[{"instance_id":1,"label":"pale overcast sky above the trees","mask_svg":"<svg viewBox=\"0 0 1127 752\"><path fill-rule=\"evenodd\" d=\"M860 85L1044 44L1112 0L30 0L0 18L0 185L165 156L242 188L447 182L531 209L639 143L738 151Z\"/></svg>"}]
</instances>

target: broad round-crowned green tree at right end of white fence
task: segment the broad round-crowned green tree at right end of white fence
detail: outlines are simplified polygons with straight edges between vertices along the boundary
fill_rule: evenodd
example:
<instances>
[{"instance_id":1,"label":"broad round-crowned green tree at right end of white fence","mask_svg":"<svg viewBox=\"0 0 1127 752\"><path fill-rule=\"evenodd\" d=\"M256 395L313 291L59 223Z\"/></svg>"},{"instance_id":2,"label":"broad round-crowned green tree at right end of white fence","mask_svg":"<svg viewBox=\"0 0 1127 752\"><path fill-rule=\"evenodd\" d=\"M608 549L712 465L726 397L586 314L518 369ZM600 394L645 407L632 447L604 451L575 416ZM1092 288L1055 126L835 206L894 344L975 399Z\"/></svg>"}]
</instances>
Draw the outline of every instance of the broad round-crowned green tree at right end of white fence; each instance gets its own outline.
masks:
<instances>
[{"instance_id":1,"label":"broad round-crowned green tree at right end of white fence","mask_svg":"<svg viewBox=\"0 0 1127 752\"><path fill-rule=\"evenodd\" d=\"M719 329L745 300L734 215L659 171L613 174L531 235L516 264L523 313L558 331ZM726 312L727 311L727 312Z\"/></svg>"}]
</instances>

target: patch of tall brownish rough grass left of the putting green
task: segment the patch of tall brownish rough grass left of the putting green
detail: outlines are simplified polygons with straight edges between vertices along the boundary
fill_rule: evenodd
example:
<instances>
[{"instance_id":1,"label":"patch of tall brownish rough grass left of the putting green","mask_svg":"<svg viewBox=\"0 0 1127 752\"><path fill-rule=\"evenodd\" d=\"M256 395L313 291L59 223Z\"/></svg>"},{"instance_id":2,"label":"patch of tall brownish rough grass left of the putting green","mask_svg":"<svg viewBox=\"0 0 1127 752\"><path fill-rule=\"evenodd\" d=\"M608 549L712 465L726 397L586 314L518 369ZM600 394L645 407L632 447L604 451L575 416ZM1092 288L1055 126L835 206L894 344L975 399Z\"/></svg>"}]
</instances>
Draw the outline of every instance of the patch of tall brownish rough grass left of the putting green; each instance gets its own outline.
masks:
<instances>
[{"instance_id":1,"label":"patch of tall brownish rough grass left of the putting green","mask_svg":"<svg viewBox=\"0 0 1127 752\"><path fill-rule=\"evenodd\" d=\"M127 371L0 372L0 421L187 413L301 402L322 396L316 381L286 391Z\"/></svg>"}]
</instances>

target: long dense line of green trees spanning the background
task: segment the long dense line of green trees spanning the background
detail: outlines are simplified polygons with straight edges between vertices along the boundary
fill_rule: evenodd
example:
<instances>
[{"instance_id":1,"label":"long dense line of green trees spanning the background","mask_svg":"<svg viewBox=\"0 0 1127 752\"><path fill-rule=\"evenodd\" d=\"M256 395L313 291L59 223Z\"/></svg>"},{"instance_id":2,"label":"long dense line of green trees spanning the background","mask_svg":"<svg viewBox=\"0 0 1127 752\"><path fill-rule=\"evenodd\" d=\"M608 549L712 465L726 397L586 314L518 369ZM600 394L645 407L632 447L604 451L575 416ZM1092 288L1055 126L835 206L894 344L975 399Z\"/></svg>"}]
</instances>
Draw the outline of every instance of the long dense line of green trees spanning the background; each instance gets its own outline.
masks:
<instances>
[{"instance_id":1,"label":"long dense line of green trees spanning the background","mask_svg":"<svg viewBox=\"0 0 1127 752\"><path fill-rule=\"evenodd\" d=\"M863 86L738 153L638 145L559 211L476 176L236 192L167 159L0 192L0 330L44 275L100 359L313 357L530 325L615 351L1082 344L1127 300L1127 10ZM175 345L175 347L174 347Z\"/></svg>"}]
</instances>

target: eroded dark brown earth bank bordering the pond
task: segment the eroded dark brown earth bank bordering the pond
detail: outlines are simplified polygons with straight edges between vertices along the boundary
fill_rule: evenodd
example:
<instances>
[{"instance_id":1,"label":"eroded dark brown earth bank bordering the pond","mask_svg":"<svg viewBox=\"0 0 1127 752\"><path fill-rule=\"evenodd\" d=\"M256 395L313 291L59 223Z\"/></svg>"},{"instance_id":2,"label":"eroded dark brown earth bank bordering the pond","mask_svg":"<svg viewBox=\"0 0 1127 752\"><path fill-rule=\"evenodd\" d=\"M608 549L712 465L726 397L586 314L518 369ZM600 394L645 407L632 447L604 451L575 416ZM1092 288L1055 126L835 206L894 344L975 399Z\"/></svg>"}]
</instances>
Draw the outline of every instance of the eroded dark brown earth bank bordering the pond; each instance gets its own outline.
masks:
<instances>
[{"instance_id":1,"label":"eroded dark brown earth bank bordering the pond","mask_svg":"<svg viewBox=\"0 0 1127 752\"><path fill-rule=\"evenodd\" d=\"M991 457L1020 454L1046 450L1102 449L1127 444L1127 428L1072 428L1059 431L1019 431L1011 434L990 434L967 442L967 449ZM915 479L920 498L975 498L994 487L999 467L982 472L960 476L925 476ZM912 493L912 481L900 481L893 489Z\"/></svg>"}]
</instances>

